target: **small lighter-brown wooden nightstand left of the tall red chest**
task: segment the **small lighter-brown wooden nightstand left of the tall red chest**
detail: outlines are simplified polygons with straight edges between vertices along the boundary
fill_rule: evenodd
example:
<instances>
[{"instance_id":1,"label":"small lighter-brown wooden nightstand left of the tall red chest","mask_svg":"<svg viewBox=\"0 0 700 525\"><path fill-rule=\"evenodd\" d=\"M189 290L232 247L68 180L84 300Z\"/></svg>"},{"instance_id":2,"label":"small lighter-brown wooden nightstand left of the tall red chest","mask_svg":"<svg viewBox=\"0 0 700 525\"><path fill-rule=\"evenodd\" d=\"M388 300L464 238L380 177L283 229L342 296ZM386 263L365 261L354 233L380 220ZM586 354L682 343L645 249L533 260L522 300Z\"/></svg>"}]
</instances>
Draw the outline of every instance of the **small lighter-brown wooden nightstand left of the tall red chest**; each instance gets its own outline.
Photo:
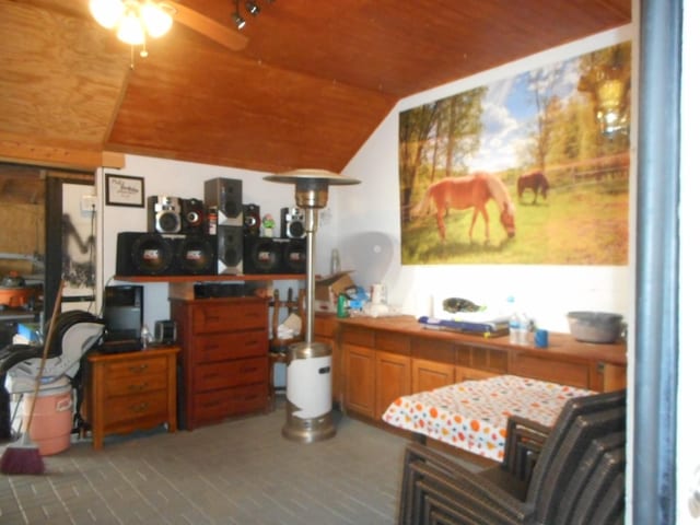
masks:
<instances>
[{"instance_id":1,"label":"small lighter-brown wooden nightstand left of the tall red chest","mask_svg":"<svg viewBox=\"0 0 700 525\"><path fill-rule=\"evenodd\" d=\"M151 348L88 357L86 396L92 446L102 448L105 434L128 433L166 423L177 429L177 347Z\"/></svg>"}]
</instances>

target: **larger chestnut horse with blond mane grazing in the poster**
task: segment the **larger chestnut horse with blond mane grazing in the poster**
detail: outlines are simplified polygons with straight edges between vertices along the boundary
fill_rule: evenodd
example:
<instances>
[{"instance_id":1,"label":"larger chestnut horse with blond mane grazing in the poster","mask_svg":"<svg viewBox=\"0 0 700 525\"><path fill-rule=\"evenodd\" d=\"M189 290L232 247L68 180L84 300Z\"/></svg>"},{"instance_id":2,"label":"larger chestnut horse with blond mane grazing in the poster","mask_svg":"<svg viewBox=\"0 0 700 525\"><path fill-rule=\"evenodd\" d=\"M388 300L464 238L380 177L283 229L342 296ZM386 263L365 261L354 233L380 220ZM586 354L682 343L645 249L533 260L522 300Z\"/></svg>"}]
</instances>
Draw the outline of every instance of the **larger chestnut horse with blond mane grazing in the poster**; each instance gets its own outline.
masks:
<instances>
[{"instance_id":1,"label":"larger chestnut horse with blond mane grazing in the poster","mask_svg":"<svg viewBox=\"0 0 700 525\"><path fill-rule=\"evenodd\" d=\"M440 238L445 241L445 214L451 209L466 210L474 208L471 225L469 228L469 241L472 238L474 225L477 217L481 215L486 223L486 241L489 242L489 213L487 202L493 199L501 210L501 224L509 237L515 235L515 206L508 195L503 182L490 173L476 173L465 177L447 177L433 183L425 190L421 201L411 210L412 217L423 215L435 207L435 220Z\"/></svg>"}]
</instances>

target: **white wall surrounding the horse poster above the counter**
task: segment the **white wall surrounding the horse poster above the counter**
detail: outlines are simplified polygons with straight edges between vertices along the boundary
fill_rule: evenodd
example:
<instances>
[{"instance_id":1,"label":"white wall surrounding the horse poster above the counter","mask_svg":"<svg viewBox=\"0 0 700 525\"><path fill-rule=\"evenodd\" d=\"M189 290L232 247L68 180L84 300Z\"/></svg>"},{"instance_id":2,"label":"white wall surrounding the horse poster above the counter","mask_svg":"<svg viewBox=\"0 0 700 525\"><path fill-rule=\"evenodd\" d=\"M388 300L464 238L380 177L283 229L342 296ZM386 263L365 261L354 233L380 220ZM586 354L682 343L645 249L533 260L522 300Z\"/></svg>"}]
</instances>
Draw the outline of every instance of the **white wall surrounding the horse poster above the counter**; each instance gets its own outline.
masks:
<instances>
[{"instance_id":1,"label":"white wall surrounding the horse poster above the counter","mask_svg":"<svg viewBox=\"0 0 700 525\"><path fill-rule=\"evenodd\" d=\"M568 331L565 313L573 310L617 312L629 319L633 283L628 266L401 266L398 115L404 109L436 98L630 38L630 26L609 31L400 101L343 171L343 175L362 180L359 187L350 191L343 188L343 195L338 199L338 213L342 217L338 245L343 267L357 270L355 282L370 284L365 265L375 259L384 262L382 259L387 250L383 250L381 257L370 255L355 260L352 254L347 253L346 246L348 243L357 246L358 236L378 230L393 248L384 278L388 300L404 313L428 314L431 296L436 303L445 296L457 295L481 303L500 304L512 294L539 326L550 330ZM630 208L633 206L634 198L631 196ZM630 238L632 234L630 230ZM368 238L370 243L374 242L374 236ZM365 247L363 253L373 252L371 247ZM630 256L632 254L630 246Z\"/></svg>"}]
</instances>

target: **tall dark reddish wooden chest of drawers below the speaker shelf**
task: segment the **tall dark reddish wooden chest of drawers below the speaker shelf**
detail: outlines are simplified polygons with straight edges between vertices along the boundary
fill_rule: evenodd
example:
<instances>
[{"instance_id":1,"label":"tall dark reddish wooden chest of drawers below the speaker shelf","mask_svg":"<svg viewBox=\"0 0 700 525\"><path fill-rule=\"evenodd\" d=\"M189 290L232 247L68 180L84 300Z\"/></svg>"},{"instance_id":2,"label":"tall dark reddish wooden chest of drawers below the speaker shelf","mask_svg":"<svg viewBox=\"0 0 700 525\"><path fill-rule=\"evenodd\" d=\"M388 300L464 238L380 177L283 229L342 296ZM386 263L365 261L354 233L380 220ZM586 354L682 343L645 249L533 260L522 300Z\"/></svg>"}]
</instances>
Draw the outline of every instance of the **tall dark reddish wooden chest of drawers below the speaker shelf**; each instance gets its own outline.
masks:
<instances>
[{"instance_id":1,"label":"tall dark reddish wooden chest of drawers below the speaker shelf","mask_svg":"<svg viewBox=\"0 0 700 525\"><path fill-rule=\"evenodd\" d=\"M182 346L183 423L188 430L265 410L268 306L258 298L171 299Z\"/></svg>"}]
</instances>

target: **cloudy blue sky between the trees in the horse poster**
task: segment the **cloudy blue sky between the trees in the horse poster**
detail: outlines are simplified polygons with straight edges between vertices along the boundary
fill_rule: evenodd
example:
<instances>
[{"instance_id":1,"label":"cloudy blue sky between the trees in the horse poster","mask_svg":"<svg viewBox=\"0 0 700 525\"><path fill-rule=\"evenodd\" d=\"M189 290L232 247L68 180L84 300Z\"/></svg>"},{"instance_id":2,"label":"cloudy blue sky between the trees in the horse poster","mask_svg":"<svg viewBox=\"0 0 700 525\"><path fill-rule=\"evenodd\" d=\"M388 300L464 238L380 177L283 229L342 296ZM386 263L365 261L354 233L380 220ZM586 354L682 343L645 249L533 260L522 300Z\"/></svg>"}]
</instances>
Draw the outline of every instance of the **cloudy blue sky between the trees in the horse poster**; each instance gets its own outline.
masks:
<instances>
[{"instance_id":1,"label":"cloudy blue sky between the trees in the horse poster","mask_svg":"<svg viewBox=\"0 0 700 525\"><path fill-rule=\"evenodd\" d=\"M561 74L556 94L562 100L578 96L579 58L538 70L542 83ZM479 150L466 160L469 171L499 172L521 164L530 142L537 107L528 72L489 84L483 100L483 135Z\"/></svg>"}]
</instances>

